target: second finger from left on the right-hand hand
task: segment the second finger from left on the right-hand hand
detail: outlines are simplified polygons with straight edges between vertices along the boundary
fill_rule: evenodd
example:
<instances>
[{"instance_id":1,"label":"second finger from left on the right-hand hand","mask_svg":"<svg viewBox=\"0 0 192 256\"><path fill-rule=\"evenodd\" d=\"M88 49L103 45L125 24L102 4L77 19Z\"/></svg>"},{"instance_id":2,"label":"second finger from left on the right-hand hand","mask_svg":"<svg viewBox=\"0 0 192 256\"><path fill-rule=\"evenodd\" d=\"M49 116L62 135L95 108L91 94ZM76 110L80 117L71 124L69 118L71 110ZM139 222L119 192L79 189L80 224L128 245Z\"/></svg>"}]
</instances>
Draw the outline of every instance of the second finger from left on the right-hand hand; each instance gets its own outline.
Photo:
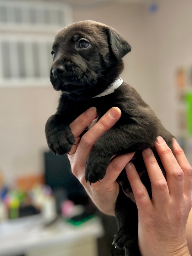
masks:
<instances>
[{"instance_id":1,"label":"second finger from left on the right-hand hand","mask_svg":"<svg viewBox=\"0 0 192 256\"><path fill-rule=\"evenodd\" d=\"M169 198L166 179L162 174L153 151L150 148L145 149L142 155L151 182L153 201L162 204Z\"/></svg>"}]
</instances>

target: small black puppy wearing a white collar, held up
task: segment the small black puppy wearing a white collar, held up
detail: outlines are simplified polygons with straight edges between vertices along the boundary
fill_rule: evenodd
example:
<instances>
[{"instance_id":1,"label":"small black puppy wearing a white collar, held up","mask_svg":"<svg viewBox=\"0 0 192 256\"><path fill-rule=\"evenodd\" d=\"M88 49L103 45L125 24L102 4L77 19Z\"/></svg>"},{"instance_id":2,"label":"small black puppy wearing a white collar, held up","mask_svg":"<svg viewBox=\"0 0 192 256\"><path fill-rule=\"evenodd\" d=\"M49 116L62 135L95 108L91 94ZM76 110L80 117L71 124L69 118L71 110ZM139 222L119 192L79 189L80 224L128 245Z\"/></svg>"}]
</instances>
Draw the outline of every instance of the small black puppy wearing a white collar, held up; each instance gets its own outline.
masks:
<instances>
[{"instance_id":1,"label":"small black puppy wearing a white collar, held up","mask_svg":"<svg viewBox=\"0 0 192 256\"><path fill-rule=\"evenodd\" d=\"M82 112L95 106L98 118L111 107L119 107L122 116L95 143L86 162L85 178L90 183L101 180L113 155L136 151L132 159L151 196L151 186L142 158L142 150L154 149L157 136L171 147L172 135L162 126L138 93L119 77L122 58L130 45L113 29L94 21L74 23L60 31L53 43L50 80L62 95L56 114L46 123L46 138L53 153L63 155L75 144L69 124ZM121 185L116 203L119 231L114 244L126 248L126 256L138 256L138 212L128 197L130 185L125 171L118 177Z\"/></svg>"}]
</instances>

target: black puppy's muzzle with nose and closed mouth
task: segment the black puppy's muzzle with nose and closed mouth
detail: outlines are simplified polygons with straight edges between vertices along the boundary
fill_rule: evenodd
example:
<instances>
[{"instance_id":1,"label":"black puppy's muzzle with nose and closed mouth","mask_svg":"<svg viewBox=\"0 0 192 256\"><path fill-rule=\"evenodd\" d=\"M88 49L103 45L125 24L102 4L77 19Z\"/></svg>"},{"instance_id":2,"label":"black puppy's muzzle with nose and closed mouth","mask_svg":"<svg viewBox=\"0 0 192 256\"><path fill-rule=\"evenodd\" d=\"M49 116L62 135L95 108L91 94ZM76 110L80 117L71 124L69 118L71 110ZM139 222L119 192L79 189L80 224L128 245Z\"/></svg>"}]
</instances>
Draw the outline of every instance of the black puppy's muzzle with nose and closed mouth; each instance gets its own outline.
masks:
<instances>
[{"instance_id":1,"label":"black puppy's muzzle with nose and closed mouth","mask_svg":"<svg viewBox=\"0 0 192 256\"><path fill-rule=\"evenodd\" d=\"M62 90L67 94L81 93L95 83L94 79L91 79L78 66L60 66L57 69L51 69L50 81L56 91Z\"/></svg>"}]
</instances>

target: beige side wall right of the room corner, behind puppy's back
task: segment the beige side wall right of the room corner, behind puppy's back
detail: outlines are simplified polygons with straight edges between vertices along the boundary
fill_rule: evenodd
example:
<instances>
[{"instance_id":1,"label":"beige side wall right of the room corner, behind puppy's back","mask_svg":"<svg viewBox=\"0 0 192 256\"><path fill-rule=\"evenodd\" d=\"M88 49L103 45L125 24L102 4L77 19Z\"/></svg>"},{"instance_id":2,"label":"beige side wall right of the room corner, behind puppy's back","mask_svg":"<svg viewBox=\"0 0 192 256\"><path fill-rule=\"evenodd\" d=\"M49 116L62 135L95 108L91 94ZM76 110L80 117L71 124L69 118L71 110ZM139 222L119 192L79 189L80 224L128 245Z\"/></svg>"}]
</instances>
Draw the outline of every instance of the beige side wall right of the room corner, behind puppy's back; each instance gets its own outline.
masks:
<instances>
[{"instance_id":1,"label":"beige side wall right of the room corner, behind puppy's back","mask_svg":"<svg viewBox=\"0 0 192 256\"><path fill-rule=\"evenodd\" d=\"M192 1L158 0L159 10L146 17L146 34L154 73L154 109L164 126L178 134L175 72L180 66L192 67Z\"/></svg>"}]
</instances>

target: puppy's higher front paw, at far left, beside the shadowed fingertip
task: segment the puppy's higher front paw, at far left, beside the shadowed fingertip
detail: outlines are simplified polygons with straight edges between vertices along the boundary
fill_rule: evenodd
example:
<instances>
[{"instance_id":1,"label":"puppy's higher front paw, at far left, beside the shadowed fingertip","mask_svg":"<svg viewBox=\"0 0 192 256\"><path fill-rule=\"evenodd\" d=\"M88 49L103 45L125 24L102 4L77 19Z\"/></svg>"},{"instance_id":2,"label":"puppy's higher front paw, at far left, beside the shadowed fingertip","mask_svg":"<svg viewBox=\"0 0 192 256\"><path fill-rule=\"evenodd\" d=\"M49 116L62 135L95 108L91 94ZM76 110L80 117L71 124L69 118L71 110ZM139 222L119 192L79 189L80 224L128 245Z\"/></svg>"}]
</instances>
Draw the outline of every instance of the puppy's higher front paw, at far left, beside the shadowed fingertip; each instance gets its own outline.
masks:
<instances>
[{"instance_id":1,"label":"puppy's higher front paw, at far left, beside the shadowed fingertip","mask_svg":"<svg viewBox=\"0 0 192 256\"><path fill-rule=\"evenodd\" d=\"M55 155L69 153L71 146L75 144L75 137L69 126L63 126L62 130L54 131L46 137L48 146Z\"/></svg>"}]
</instances>

